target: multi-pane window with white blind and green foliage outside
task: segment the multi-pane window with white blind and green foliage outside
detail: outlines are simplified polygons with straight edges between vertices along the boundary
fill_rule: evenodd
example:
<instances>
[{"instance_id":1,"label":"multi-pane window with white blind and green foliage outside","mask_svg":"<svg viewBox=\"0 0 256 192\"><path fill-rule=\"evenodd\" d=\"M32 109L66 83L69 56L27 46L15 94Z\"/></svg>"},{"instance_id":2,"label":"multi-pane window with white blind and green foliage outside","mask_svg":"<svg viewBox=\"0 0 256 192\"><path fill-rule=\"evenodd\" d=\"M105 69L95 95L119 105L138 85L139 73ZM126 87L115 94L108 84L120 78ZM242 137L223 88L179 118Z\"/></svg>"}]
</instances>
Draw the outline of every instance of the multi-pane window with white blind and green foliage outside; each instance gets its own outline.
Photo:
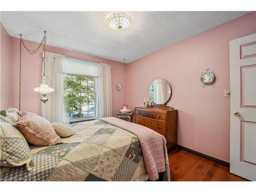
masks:
<instances>
[{"instance_id":1,"label":"multi-pane window with white blind and green foliage outside","mask_svg":"<svg viewBox=\"0 0 256 192\"><path fill-rule=\"evenodd\" d=\"M96 117L98 65L66 58L64 104L71 121Z\"/></svg>"}]
</instances>

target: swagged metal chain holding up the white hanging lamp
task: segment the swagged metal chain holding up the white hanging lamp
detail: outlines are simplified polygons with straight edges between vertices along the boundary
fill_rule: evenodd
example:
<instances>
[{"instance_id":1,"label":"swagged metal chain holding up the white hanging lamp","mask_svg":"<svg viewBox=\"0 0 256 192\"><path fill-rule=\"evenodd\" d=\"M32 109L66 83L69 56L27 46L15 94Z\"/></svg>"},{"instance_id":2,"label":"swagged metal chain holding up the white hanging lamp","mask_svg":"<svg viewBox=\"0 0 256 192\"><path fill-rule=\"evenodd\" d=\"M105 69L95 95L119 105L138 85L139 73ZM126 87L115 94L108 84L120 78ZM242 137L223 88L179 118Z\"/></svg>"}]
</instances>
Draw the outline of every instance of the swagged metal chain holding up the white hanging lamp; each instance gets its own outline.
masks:
<instances>
[{"instance_id":1,"label":"swagged metal chain holding up the white hanging lamp","mask_svg":"<svg viewBox=\"0 0 256 192\"><path fill-rule=\"evenodd\" d=\"M24 41L22 39L22 34L19 34L20 35L20 38L19 38L19 100L18 100L18 110L19 111L20 111L20 107L22 105L22 94L21 94L21 90L22 90L22 45L26 48L26 50L29 52L30 55L37 53L39 51L41 45L44 45L44 55L42 58L42 62L44 65L44 76L45 76L45 71L46 71L46 68L45 68L46 31L44 34L45 34L45 36L44 36L44 38L42 38L40 45L34 50L30 50L25 46Z\"/></svg>"}]
</instances>

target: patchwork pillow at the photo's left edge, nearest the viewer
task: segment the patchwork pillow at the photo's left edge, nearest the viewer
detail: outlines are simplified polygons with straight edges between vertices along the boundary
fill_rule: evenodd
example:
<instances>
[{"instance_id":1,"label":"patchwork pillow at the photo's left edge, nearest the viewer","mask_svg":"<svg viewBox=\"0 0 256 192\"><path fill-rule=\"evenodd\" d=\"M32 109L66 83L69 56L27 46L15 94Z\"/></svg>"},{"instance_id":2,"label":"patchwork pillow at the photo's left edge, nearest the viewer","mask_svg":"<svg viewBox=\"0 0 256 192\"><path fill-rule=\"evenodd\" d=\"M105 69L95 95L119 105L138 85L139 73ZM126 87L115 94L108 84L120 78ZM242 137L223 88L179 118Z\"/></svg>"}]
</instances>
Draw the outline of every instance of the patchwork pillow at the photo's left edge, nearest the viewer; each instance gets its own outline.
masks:
<instances>
[{"instance_id":1,"label":"patchwork pillow at the photo's left edge, nearest the viewer","mask_svg":"<svg viewBox=\"0 0 256 192\"><path fill-rule=\"evenodd\" d=\"M0 122L0 164L3 167L16 167L25 165L30 171L33 162L30 158L29 145L22 135L12 124Z\"/></svg>"}]
</instances>

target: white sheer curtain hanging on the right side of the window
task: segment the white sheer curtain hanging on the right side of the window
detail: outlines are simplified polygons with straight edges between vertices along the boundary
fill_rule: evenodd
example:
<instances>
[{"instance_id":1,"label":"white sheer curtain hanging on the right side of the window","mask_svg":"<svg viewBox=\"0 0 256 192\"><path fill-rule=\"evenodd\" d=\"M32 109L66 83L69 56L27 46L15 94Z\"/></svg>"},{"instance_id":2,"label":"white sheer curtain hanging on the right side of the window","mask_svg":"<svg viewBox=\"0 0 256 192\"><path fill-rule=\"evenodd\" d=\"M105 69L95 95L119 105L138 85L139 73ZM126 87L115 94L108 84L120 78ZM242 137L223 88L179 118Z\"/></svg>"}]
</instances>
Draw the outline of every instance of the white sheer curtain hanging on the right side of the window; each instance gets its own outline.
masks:
<instances>
[{"instance_id":1,"label":"white sheer curtain hanging on the right side of the window","mask_svg":"<svg viewBox=\"0 0 256 192\"><path fill-rule=\"evenodd\" d=\"M112 86L111 86L111 66L99 64L98 82L98 117L112 116Z\"/></svg>"}]
</instances>

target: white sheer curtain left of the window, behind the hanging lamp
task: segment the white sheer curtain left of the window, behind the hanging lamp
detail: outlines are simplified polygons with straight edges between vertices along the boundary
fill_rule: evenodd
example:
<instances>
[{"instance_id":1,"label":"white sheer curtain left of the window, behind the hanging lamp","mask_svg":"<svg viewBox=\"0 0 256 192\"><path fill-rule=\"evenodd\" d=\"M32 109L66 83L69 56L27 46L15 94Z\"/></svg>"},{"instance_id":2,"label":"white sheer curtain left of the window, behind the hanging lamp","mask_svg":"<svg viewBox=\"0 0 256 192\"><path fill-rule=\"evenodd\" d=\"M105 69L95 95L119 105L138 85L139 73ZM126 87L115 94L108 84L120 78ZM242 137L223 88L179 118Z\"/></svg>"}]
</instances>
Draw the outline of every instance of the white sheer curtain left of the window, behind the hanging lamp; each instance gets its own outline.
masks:
<instances>
[{"instance_id":1,"label":"white sheer curtain left of the window, behind the hanging lamp","mask_svg":"<svg viewBox=\"0 0 256 192\"><path fill-rule=\"evenodd\" d=\"M46 53L46 76L50 78L50 87L56 92L47 95L48 101L41 102L41 116L50 122L69 123L68 113L63 103L63 68L65 68L65 56ZM43 69L44 70L44 69Z\"/></svg>"}]
</instances>

